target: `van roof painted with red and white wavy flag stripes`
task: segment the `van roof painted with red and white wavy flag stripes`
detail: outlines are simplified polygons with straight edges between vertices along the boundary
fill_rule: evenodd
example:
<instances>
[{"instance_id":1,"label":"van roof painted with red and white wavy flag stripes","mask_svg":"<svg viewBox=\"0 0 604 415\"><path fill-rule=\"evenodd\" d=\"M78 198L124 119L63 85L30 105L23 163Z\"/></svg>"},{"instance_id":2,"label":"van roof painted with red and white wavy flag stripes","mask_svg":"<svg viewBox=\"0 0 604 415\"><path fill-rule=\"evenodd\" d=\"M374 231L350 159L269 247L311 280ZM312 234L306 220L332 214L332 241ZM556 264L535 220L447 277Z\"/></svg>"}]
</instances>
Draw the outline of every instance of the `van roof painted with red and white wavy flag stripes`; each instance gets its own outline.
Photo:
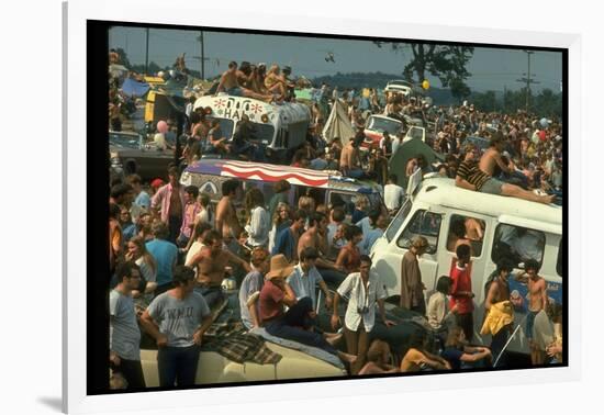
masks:
<instances>
[{"instance_id":1,"label":"van roof painted with red and white wavy flag stripes","mask_svg":"<svg viewBox=\"0 0 604 415\"><path fill-rule=\"evenodd\" d=\"M323 189L331 188L361 193L378 192L373 183L343 177L338 171L311 170L301 167L262 162L202 158L187 167L184 172L268 182L287 180L291 184Z\"/></svg>"}]
</instances>

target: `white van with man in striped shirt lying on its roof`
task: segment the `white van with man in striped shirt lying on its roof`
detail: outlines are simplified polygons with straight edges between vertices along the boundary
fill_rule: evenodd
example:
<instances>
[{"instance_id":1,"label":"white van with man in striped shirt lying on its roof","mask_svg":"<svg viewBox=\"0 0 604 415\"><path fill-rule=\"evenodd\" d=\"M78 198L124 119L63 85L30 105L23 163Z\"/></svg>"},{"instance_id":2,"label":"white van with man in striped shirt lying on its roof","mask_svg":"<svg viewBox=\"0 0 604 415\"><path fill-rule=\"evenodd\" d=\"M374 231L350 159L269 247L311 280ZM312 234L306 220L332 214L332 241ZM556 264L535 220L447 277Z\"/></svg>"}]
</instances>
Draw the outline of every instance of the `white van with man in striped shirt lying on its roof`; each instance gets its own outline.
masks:
<instances>
[{"instance_id":1,"label":"white van with man in striped shirt lying on its roof","mask_svg":"<svg viewBox=\"0 0 604 415\"><path fill-rule=\"evenodd\" d=\"M428 250L420 258L422 281L426 285L426 301L436 290L440 276L449 276L455 258L457 238L451 225L459 221L474 221L483 227L480 242L472 242L471 279L474 293L474 334L479 341L489 345L490 336L481 338L480 328L484 315L485 285L495 270L500 257L513 257L517 263L515 276L524 261L535 259L540 265L539 274L548 285L550 302L562 304L562 209L528 202L516 198L485 194L461 189L455 180L428 175L422 181L421 172L414 173L407 188L407 199L371 249L377 272L384 281L389 296L401 291L401 261L414 236L424 236ZM512 254L513 253L513 254ZM519 253L519 254L518 254ZM510 290L518 299L515 325L526 315L527 288L510 279ZM514 293L514 291L517 291ZM521 325L508 350L528 352Z\"/></svg>"}]
</instances>

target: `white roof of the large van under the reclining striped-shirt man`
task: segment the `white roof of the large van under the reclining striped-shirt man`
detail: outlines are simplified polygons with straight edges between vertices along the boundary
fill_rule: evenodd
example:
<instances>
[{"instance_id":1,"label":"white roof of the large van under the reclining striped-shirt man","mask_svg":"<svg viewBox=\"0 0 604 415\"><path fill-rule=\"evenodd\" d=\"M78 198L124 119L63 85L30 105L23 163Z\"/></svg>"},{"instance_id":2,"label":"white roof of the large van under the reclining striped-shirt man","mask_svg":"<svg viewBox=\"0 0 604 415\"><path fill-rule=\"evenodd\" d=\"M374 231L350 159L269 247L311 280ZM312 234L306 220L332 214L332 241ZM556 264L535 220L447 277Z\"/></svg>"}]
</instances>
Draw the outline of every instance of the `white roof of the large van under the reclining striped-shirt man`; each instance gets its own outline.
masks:
<instances>
[{"instance_id":1,"label":"white roof of the large van under the reclining striped-shirt man","mask_svg":"<svg viewBox=\"0 0 604 415\"><path fill-rule=\"evenodd\" d=\"M560 206L462 189L455 186L454 179L425 178L414 201L496 216L502 223L562 233Z\"/></svg>"}]
</instances>

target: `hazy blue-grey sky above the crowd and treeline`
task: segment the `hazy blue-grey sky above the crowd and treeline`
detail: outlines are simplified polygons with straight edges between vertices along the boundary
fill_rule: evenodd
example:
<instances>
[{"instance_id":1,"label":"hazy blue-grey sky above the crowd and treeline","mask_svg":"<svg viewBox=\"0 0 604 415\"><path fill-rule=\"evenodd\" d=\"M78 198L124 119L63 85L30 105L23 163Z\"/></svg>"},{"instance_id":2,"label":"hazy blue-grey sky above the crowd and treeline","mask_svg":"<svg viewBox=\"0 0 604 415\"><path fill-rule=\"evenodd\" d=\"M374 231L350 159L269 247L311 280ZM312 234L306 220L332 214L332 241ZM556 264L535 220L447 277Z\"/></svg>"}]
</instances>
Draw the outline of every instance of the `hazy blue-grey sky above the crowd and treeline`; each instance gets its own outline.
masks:
<instances>
[{"instance_id":1,"label":"hazy blue-grey sky above the crowd and treeline","mask_svg":"<svg viewBox=\"0 0 604 415\"><path fill-rule=\"evenodd\" d=\"M149 63L160 67L171 66L177 55L186 53L187 67L200 70L201 45L199 31L149 29ZM220 75L228 61L276 63L289 65L293 75L314 78L336 72L401 74L411 58L410 48L395 53L390 46L376 46L371 41L333 40L318 37L277 36L262 34L203 32L205 77ZM109 32L110 48L121 47L133 64L145 63L146 31L142 27L114 26ZM325 61L328 53L335 63ZM517 79L526 77L527 54L522 49L474 47L468 63L472 74L467 82L473 91L517 90L526 86ZM562 54L536 51L530 55L532 78L539 82L532 89L548 88L560 91L562 80ZM430 85L438 87L438 79L428 76Z\"/></svg>"}]
</instances>

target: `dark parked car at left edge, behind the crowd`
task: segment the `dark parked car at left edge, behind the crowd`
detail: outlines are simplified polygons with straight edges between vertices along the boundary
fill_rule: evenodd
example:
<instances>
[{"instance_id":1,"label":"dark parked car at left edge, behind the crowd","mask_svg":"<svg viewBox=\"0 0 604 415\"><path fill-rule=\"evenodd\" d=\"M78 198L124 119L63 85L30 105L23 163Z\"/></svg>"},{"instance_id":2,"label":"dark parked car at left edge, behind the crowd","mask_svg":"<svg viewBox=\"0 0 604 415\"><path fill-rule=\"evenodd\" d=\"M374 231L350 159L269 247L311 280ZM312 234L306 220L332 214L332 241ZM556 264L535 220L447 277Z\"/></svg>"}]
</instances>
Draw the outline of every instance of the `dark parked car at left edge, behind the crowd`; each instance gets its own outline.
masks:
<instances>
[{"instance_id":1,"label":"dark parked car at left edge, behind the crowd","mask_svg":"<svg viewBox=\"0 0 604 415\"><path fill-rule=\"evenodd\" d=\"M166 177L174 162L174 150L157 149L136 132L109 132L110 176L136 173L143 180Z\"/></svg>"}]
</instances>

